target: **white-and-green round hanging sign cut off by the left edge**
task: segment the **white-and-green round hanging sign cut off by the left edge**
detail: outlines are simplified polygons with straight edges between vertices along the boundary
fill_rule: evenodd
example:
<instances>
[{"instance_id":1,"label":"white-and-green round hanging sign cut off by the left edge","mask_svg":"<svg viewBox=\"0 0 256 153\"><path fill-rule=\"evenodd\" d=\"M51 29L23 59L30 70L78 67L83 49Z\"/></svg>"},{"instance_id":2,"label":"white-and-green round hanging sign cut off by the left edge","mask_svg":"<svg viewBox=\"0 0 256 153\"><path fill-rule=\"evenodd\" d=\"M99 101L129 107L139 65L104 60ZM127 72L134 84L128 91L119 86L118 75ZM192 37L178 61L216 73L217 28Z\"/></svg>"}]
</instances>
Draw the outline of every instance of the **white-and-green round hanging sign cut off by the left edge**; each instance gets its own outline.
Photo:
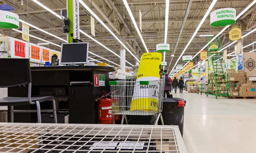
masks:
<instances>
[{"instance_id":1,"label":"white-and-green round hanging sign cut off by the left edge","mask_svg":"<svg viewBox=\"0 0 256 153\"><path fill-rule=\"evenodd\" d=\"M0 28L17 29L19 26L19 16L17 14L0 10Z\"/></svg>"}]
</instances>

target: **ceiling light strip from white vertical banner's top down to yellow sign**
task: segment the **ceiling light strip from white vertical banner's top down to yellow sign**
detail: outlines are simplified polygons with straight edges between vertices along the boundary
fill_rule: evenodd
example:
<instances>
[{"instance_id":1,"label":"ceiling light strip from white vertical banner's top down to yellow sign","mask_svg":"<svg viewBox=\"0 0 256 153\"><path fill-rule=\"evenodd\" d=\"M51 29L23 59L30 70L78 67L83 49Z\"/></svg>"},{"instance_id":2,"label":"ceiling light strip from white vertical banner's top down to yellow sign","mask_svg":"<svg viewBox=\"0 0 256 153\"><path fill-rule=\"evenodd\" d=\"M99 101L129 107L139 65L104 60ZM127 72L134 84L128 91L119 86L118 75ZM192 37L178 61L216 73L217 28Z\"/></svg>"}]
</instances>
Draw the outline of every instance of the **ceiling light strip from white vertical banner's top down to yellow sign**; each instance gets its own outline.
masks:
<instances>
[{"instance_id":1,"label":"ceiling light strip from white vertical banner's top down to yellow sign","mask_svg":"<svg viewBox=\"0 0 256 153\"><path fill-rule=\"evenodd\" d=\"M111 35L113 35L114 38L116 38L116 40L122 45L125 47L125 49L138 61L140 62L140 60L130 51L130 49L128 49L124 43L122 43L122 41L116 37L116 35L111 31L111 29L108 28L108 26L106 26L106 24L82 1L82 0L79 0L79 2L82 4L82 6L84 6L85 9L87 9L88 12L90 12L90 14L93 15L93 17L95 17L99 23L102 24L102 26L104 26L108 32L111 33Z\"/></svg>"}]
</instances>

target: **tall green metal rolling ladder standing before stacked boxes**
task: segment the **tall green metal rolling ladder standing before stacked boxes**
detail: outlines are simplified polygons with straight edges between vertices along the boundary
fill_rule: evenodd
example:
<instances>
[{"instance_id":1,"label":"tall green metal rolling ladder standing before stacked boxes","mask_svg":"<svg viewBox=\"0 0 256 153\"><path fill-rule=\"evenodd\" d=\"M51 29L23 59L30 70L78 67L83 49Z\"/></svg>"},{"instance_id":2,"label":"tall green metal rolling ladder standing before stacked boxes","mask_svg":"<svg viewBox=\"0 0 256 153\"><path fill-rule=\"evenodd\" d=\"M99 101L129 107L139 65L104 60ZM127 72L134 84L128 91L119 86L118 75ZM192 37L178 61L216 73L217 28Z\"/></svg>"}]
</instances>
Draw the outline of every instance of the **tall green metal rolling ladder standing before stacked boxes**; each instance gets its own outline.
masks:
<instances>
[{"instance_id":1,"label":"tall green metal rolling ladder standing before stacked boxes","mask_svg":"<svg viewBox=\"0 0 256 153\"><path fill-rule=\"evenodd\" d=\"M208 42L212 37L208 37ZM221 41L216 38L208 45L208 88L207 96L214 95L216 99L220 96L230 98L229 78L224 53L221 49ZM219 51L221 50L221 52ZM212 69L211 69L212 68Z\"/></svg>"}]
</instances>

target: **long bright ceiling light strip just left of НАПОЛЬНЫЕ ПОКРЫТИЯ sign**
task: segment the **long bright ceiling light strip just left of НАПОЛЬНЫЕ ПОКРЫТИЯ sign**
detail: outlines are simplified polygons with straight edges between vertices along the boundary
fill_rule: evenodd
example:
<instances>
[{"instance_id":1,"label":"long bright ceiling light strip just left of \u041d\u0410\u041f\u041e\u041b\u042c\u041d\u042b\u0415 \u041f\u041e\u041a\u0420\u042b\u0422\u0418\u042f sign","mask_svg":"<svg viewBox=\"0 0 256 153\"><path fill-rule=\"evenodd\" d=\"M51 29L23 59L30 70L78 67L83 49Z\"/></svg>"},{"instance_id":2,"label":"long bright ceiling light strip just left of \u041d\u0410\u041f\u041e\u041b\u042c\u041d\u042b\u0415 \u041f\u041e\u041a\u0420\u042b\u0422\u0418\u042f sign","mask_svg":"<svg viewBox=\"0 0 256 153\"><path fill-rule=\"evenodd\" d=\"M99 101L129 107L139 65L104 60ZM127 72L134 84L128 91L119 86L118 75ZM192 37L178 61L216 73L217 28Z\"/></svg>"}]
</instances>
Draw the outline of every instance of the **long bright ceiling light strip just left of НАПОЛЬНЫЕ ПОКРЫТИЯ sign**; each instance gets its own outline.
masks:
<instances>
[{"instance_id":1,"label":"long bright ceiling light strip just left of \u041d\u0410\u041f\u041e\u041b\u042c\u041d\u042b\u0415 \u041f\u041e\u041a\u0420\u042b\u0422\u0418\u042f sign","mask_svg":"<svg viewBox=\"0 0 256 153\"><path fill-rule=\"evenodd\" d=\"M209 15L209 13L211 12L213 6L215 5L215 3L217 2L217 0L213 0L211 5L209 6L207 12L204 14L203 19L201 20L201 22L199 23L198 27L195 29L194 34L192 35L191 39L189 40L188 44L186 45L186 47L184 48L183 52L180 54L180 57L177 59L175 65L173 66L172 70L175 68L176 64L178 63L178 61L180 60L180 58L182 57L182 55L184 54L184 52L186 51L186 49L188 48L189 44L192 42L192 40L194 39L195 35L197 34L198 30L201 28L202 24L204 23L204 20L207 18L207 16Z\"/></svg>"}]
</instances>

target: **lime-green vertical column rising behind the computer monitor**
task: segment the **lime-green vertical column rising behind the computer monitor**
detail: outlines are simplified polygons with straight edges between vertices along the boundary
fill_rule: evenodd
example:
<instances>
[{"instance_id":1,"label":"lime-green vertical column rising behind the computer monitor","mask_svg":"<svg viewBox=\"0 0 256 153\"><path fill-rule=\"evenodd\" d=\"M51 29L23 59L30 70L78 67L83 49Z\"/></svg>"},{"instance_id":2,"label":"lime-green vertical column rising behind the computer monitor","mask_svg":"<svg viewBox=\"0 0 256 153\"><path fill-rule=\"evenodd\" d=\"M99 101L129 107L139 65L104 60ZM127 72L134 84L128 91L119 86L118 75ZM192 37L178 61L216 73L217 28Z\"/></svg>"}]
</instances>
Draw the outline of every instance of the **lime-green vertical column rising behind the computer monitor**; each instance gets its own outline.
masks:
<instances>
[{"instance_id":1,"label":"lime-green vertical column rising behind the computer monitor","mask_svg":"<svg viewBox=\"0 0 256 153\"><path fill-rule=\"evenodd\" d=\"M67 42L73 43L73 0L67 0L67 17L70 19L70 32L68 33Z\"/></svg>"}]
</instances>

